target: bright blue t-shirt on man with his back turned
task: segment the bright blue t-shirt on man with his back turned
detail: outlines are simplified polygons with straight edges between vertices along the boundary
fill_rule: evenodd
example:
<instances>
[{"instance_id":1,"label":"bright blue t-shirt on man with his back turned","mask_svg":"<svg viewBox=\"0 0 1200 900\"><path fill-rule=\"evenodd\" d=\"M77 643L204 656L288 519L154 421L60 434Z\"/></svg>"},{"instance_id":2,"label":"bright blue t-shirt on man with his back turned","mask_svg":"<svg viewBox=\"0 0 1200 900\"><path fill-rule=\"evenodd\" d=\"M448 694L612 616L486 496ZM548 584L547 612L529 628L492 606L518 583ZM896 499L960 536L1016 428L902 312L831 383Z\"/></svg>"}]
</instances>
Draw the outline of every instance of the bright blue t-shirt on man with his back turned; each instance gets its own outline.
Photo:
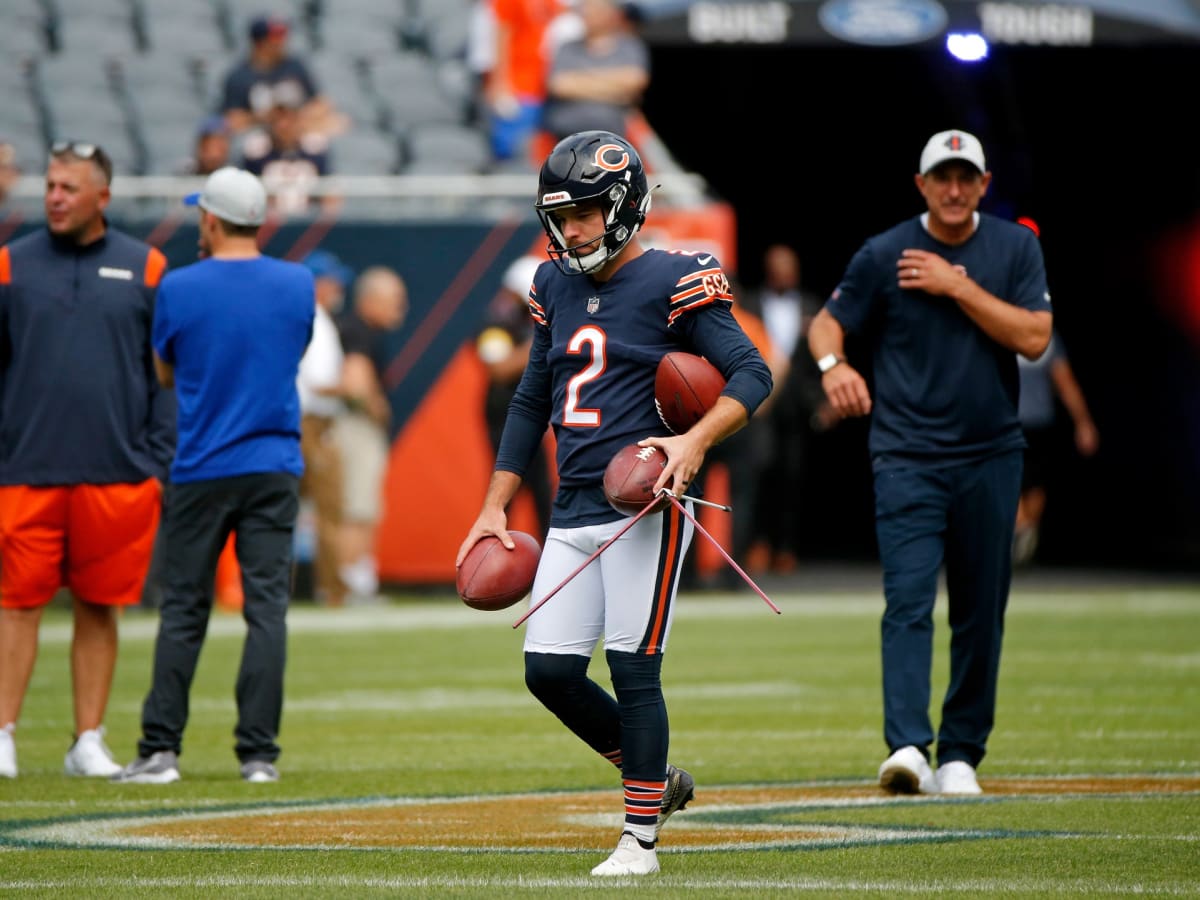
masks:
<instances>
[{"instance_id":1,"label":"bright blue t-shirt on man with his back turned","mask_svg":"<svg viewBox=\"0 0 1200 900\"><path fill-rule=\"evenodd\" d=\"M302 474L296 371L314 311L312 272L270 257L204 259L162 280L154 348L175 367L172 481Z\"/></svg>"}]
</instances>

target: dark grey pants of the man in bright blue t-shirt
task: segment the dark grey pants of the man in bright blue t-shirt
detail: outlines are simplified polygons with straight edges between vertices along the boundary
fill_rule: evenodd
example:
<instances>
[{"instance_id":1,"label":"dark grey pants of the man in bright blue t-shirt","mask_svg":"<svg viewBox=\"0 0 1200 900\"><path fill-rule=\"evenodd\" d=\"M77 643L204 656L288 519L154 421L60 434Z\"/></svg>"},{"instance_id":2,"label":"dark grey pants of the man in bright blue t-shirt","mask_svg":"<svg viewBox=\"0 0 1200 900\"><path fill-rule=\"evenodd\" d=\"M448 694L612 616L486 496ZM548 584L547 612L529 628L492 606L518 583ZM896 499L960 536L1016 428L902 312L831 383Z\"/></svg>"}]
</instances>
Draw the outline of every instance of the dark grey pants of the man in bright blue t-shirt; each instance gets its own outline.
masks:
<instances>
[{"instance_id":1,"label":"dark grey pants of the man in bright blue t-shirt","mask_svg":"<svg viewBox=\"0 0 1200 900\"><path fill-rule=\"evenodd\" d=\"M212 612L217 558L230 532L241 568L246 643L238 671L238 758L275 761L283 709L292 535L299 480L264 473L169 486L166 589L138 755L182 750L188 692Z\"/></svg>"}]
</instances>

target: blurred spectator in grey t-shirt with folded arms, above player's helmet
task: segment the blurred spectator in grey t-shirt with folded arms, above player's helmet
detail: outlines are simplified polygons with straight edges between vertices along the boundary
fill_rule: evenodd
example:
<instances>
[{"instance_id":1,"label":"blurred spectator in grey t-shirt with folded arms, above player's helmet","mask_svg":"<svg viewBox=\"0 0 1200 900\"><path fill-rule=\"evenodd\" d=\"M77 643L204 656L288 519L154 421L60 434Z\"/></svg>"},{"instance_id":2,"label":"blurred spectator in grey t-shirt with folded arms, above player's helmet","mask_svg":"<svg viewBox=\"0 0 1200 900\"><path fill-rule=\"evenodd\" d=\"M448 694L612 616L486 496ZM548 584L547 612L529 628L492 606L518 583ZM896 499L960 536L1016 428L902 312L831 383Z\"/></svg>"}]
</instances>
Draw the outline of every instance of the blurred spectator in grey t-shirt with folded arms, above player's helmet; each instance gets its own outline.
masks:
<instances>
[{"instance_id":1,"label":"blurred spectator in grey t-shirt with folded arms, above player's helmet","mask_svg":"<svg viewBox=\"0 0 1200 900\"><path fill-rule=\"evenodd\" d=\"M629 136L629 116L650 83L650 54L636 32L640 12L622 0L580 0L583 34L554 52L542 130L550 145L578 131Z\"/></svg>"}]
</instances>

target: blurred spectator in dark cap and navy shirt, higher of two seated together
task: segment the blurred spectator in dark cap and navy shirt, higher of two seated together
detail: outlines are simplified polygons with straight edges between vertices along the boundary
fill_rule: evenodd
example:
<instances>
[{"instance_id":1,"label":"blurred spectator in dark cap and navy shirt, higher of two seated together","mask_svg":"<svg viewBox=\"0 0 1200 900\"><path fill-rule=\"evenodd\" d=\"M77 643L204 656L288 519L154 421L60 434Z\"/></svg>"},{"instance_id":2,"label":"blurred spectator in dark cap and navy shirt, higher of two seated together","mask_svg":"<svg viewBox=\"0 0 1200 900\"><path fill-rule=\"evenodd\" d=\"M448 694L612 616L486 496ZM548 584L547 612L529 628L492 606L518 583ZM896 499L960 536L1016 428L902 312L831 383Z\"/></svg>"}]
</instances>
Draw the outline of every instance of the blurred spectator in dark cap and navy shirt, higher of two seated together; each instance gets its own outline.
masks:
<instances>
[{"instance_id":1,"label":"blurred spectator in dark cap and navy shirt, higher of two seated together","mask_svg":"<svg viewBox=\"0 0 1200 900\"><path fill-rule=\"evenodd\" d=\"M259 16L250 23L250 50L224 78L221 109L234 133L268 124L280 101L299 110L300 127L325 137L347 128L346 116L322 94L308 65L288 53L288 23Z\"/></svg>"}]
</instances>

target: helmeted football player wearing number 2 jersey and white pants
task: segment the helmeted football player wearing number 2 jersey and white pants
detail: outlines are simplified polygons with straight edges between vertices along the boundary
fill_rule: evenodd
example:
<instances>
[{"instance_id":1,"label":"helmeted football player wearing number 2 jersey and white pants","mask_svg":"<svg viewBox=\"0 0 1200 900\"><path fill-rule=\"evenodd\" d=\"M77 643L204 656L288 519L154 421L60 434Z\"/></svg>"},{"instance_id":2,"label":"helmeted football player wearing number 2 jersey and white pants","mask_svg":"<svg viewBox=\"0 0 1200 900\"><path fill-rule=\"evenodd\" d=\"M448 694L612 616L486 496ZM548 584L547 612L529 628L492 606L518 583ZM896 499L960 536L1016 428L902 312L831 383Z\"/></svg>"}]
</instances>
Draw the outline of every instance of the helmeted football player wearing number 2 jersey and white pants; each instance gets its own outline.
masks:
<instances>
[{"instance_id":1,"label":"helmeted football player wearing number 2 jersey and white pants","mask_svg":"<svg viewBox=\"0 0 1200 900\"><path fill-rule=\"evenodd\" d=\"M667 464L655 488L685 491L708 449L744 426L772 388L767 364L730 311L720 263L638 241L650 191L628 140L605 131L560 140L541 167L535 208L551 260L529 288L533 349L487 496L457 558L461 565L488 534L512 546L505 508L552 425L559 485L534 600L626 523L604 492L605 468L618 450L659 448ZM727 380L704 418L678 436L654 406L655 370L671 350L707 358ZM643 516L528 620L529 690L622 774L624 829L593 875L658 871L659 829L692 798L691 775L667 763L660 678L691 536L674 505ZM588 678L601 638L616 696Z\"/></svg>"}]
</instances>

